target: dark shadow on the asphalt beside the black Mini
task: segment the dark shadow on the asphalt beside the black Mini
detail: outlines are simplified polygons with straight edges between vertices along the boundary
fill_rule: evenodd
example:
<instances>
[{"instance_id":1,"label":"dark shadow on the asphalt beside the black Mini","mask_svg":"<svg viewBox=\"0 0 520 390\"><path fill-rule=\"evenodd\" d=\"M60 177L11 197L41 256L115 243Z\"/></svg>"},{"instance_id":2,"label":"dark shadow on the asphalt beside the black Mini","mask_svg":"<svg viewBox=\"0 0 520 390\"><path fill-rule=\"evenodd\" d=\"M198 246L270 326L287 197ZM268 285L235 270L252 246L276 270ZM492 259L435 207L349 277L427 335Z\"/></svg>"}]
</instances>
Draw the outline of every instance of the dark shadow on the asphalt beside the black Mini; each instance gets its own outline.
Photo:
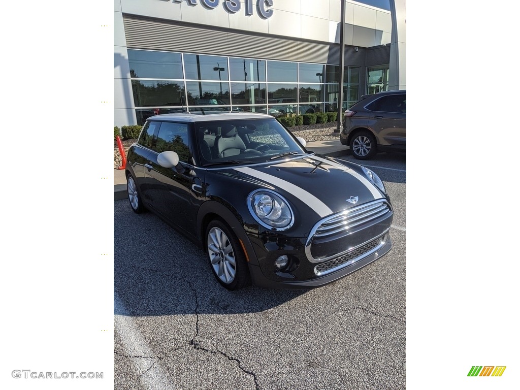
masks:
<instances>
[{"instance_id":1,"label":"dark shadow on the asphalt beside the black Mini","mask_svg":"<svg viewBox=\"0 0 520 390\"><path fill-rule=\"evenodd\" d=\"M136 215L119 201L114 218L116 315L256 313L308 291L254 286L228 291L213 276L202 249L157 216Z\"/></svg>"}]
</instances>

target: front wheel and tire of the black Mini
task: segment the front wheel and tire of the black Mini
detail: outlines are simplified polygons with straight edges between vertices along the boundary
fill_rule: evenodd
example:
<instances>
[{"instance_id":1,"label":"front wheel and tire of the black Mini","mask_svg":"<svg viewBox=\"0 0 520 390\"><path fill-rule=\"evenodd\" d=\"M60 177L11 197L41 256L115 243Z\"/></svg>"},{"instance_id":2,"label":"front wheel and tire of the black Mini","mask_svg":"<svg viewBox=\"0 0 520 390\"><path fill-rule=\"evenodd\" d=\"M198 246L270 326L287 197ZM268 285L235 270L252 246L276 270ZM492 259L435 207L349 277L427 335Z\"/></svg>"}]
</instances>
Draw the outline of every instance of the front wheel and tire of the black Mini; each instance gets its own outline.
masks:
<instances>
[{"instance_id":1,"label":"front wheel and tire of the black Mini","mask_svg":"<svg viewBox=\"0 0 520 390\"><path fill-rule=\"evenodd\" d=\"M237 236L222 221L215 219L206 228L206 254L217 281L228 290L251 285L249 266Z\"/></svg>"}]
</instances>

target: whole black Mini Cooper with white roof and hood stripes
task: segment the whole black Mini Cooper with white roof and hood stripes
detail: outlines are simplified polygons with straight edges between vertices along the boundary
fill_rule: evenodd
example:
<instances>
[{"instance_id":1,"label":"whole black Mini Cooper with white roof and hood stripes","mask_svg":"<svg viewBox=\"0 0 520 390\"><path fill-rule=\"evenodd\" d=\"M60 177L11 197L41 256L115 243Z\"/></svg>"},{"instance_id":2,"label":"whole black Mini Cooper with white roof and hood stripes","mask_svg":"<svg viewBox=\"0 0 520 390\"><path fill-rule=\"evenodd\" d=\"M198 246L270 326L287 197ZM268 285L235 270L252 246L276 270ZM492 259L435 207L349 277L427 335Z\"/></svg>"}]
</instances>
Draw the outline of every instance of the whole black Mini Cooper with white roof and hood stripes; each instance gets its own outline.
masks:
<instances>
[{"instance_id":1,"label":"whole black Mini Cooper with white roof and hood stripes","mask_svg":"<svg viewBox=\"0 0 520 390\"><path fill-rule=\"evenodd\" d=\"M151 116L125 170L132 209L202 245L229 290L318 287L392 247L380 178L307 151L270 115Z\"/></svg>"}]
</instances>

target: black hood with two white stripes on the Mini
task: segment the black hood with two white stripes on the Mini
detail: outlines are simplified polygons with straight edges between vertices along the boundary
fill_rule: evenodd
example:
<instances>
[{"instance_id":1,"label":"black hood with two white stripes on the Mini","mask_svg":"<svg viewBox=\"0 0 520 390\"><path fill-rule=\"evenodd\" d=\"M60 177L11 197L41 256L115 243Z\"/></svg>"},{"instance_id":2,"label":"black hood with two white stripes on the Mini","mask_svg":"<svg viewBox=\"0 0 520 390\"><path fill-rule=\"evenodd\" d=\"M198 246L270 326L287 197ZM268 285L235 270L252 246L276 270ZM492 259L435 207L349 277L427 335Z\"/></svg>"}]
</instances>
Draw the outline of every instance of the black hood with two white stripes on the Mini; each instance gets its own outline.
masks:
<instances>
[{"instance_id":1,"label":"black hood with two white stripes on the Mini","mask_svg":"<svg viewBox=\"0 0 520 390\"><path fill-rule=\"evenodd\" d=\"M275 160L269 165L242 166L230 171L231 175L254 182L258 187L277 191L292 203L304 203L309 212L314 211L320 218L386 198L361 166L321 155Z\"/></svg>"}]
</instances>

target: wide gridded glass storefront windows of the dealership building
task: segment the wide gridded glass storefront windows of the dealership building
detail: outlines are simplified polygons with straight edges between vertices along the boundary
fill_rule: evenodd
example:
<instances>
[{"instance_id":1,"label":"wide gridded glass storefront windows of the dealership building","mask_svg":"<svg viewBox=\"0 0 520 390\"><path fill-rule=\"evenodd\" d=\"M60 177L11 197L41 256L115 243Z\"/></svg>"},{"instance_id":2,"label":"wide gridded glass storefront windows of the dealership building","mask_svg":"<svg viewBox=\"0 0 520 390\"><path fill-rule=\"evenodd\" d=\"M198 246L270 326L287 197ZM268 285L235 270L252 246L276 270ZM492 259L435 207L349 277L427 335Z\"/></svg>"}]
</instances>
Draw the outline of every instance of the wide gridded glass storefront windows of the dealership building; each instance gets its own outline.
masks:
<instances>
[{"instance_id":1,"label":"wide gridded glass storefront windows of the dealership building","mask_svg":"<svg viewBox=\"0 0 520 390\"><path fill-rule=\"evenodd\" d=\"M151 115L336 111L339 66L128 49L137 123ZM344 68L344 108L359 99L359 67Z\"/></svg>"}]
</instances>

